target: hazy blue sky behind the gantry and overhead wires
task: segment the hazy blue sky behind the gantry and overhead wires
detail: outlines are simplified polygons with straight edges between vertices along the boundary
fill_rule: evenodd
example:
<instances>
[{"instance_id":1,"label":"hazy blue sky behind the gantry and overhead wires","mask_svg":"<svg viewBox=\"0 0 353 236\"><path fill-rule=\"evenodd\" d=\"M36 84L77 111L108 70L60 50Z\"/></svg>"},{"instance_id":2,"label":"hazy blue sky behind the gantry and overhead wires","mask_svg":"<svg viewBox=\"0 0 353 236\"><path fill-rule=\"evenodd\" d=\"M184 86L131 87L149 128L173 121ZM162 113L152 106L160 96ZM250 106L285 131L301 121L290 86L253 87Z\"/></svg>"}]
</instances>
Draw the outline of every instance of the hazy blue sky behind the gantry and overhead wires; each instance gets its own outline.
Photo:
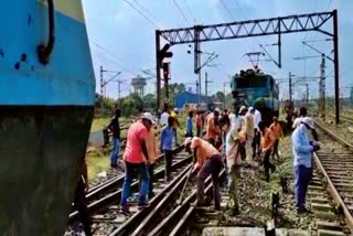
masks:
<instances>
[{"instance_id":1,"label":"hazy blue sky behind the gantry and overhead wires","mask_svg":"<svg viewBox=\"0 0 353 236\"><path fill-rule=\"evenodd\" d=\"M292 14L339 11L339 56L341 93L347 95L353 86L353 1L351 0L83 0L92 58L99 92L99 67L110 71L104 73L105 79L117 76L122 81L121 96L131 92L131 79L137 75L150 77L142 71L156 74L156 30L214 24L261 18L286 17ZM180 10L179 10L180 9ZM332 20L325 26L332 31ZM288 74L296 77L317 77L320 75L320 57L293 60L303 56L319 56L317 52L302 44L302 41L328 39L319 32L303 32L282 35L282 68L272 62L260 62L259 67L280 82L280 97L288 97ZM163 45L163 41L161 45ZM208 94L226 89L229 93L229 76L252 67L245 53L263 51L259 44L269 45L266 50L277 58L277 36L247 37L205 42L201 50L215 53L218 57L213 66L202 71L202 93L204 94L204 73L207 73ZM308 42L311 46L333 57L333 42ZM193 54L188 54L188 44L171 47L171 83L185 83L195 90ZM191 47L191 51L193 49ZM202 55L202 61L207 54ZM268 58L266 55L264 58ZM333 95L333 63L327 60L327 94ZM293 78L295 79L295 78ZM156 78L149 78L147 93L156 94ZM225 86L224 86L225 85ZM302 96L306 87L297 83L293 96ZM309 82L311 96L318 95L318 83ZM118 83L107 86L107 96L118 97Z\"/></svg>"}]
</instances>

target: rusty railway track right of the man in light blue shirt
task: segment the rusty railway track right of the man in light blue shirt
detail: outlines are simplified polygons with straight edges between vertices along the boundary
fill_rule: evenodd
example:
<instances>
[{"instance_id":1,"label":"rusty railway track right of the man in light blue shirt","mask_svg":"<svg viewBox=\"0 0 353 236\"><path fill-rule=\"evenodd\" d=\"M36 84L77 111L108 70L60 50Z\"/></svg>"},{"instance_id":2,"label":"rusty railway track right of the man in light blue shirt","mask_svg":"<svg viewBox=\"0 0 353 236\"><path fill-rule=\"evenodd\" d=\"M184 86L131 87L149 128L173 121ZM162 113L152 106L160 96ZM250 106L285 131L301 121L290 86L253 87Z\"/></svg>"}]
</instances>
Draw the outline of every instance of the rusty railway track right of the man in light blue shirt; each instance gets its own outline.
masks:
<instances>
[{"instance_id":1,"label":"rusty railway track right of the man in light blue shirt","mask_svg":"<svg viewBox=\"0 0 353 236\"><path fill-rule=\"evenodd\" d=\"M338 232L336 235L351 235L353 233L353 146L320 122L317 122L317 126L319 127L319 139L323 147L313 154L317 167L313 184L318 187L311 189L327 190L330 197L325 196L324 193L318 194L313 197L318 202L312 204L312 208L341 215L344 223L340 218L333 217L335 223L331 223L331 228ZM319 233L320 230L331 229L323 227L318 229Z\"/></svg>"}]
</instances>

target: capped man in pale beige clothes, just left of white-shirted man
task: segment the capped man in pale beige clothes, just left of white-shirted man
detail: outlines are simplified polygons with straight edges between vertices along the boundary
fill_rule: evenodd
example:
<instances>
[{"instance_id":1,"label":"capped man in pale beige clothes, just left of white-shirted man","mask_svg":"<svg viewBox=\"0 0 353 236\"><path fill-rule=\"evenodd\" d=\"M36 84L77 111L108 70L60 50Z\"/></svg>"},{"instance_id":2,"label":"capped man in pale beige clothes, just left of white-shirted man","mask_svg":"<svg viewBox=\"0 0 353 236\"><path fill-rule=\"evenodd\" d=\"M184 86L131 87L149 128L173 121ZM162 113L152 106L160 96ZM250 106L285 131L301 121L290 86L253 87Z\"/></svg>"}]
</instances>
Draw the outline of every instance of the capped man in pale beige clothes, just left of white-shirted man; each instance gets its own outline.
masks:
<instances>
[{"instance_id":1,"label":"capped man in pale beige clothes, just left of white-shirted man","mask_svg":"<svg viewBox=\"0 0 353 236\"><path fill-rule=\"evenodd\" d=\"M242 106L239 115L244 119L244 130L246 137L245 149L246 149L246 159L248 161L253 160L253 140L254 140L254 116L248 111L246 106Z\"/></svg>"}]
</instances>

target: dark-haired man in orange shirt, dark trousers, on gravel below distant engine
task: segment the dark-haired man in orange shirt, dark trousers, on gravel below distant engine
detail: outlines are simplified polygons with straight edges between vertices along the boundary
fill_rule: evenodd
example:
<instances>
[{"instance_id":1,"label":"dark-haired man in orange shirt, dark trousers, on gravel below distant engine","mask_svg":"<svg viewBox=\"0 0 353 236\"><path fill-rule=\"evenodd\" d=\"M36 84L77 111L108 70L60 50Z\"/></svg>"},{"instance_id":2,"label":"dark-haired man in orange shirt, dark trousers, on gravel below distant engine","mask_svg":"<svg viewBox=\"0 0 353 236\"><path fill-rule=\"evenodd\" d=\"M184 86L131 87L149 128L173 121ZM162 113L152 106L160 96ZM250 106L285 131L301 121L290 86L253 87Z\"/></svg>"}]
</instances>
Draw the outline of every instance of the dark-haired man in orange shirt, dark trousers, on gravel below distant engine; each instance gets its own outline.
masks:
<instances>
[{"instance_id":1,"label":"dark-haired man in orange shirt, dark trousers, on gravel below distant engine","mask_svg":"<svg viewBox=\"0 0 353 236\"><path fill-rule=\"evenodd\" d=\"M258 124L258 128L261 133L261 155L264 157L265 176L266 181L269 182L269 169L271 169L271 172L276 171L276 167L269 161L269 157L274 150L275 138L271 130L266 127L264 121Z\"/></svg>"}]
</instances>

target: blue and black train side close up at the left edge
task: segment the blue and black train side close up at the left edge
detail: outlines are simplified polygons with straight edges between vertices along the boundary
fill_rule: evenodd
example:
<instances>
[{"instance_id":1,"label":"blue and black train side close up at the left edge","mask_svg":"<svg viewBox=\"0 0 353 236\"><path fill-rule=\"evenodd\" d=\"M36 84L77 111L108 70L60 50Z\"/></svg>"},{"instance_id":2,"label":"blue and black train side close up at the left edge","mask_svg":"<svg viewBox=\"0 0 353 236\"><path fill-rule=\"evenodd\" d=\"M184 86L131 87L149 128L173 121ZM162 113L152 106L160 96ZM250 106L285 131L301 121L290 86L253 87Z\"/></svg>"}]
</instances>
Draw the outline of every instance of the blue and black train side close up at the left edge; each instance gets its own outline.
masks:
<instances>
[{"instance_id":1,"label":"blue and black train side close up at the left edge","mask_svg":"<svg viewBox=\"0 0 353 236\"><path fill-rule=\"evenodd\" d=\"M0 29L0 235L63 235L95 103L82 1L2 1Z\"/></svg>"}]
</instances>

